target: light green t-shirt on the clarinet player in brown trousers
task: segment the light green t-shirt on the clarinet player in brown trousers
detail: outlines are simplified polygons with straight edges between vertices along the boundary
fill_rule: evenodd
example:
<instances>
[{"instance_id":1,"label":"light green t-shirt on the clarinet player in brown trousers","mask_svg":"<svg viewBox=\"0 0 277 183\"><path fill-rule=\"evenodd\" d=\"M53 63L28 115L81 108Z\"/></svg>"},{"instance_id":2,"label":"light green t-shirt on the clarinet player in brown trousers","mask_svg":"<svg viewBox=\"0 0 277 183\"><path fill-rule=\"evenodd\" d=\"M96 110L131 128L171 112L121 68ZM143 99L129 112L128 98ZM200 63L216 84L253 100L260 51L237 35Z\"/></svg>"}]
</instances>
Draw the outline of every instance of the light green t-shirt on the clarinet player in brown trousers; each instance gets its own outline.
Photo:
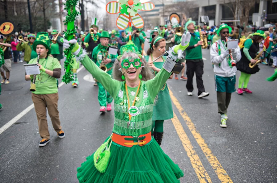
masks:
<instances>
[{"instance_id":1,"label":"light green t-shirt on the clarinet player in brown trousers","mask_svg":"<svg viewBox=\"0 0 277 183\"><path fill-rule=\"evenodd\" d=\"M37 63L37 58L30 60L28 64ZM45 69L53 71L54 69L62 69L58 59L48 56L47 59L41 58L38 61ZM58 92L57 79L40 71L41 73L36 77L36 91L34 94L55 94Z\"/></svg>"}]
</instances>

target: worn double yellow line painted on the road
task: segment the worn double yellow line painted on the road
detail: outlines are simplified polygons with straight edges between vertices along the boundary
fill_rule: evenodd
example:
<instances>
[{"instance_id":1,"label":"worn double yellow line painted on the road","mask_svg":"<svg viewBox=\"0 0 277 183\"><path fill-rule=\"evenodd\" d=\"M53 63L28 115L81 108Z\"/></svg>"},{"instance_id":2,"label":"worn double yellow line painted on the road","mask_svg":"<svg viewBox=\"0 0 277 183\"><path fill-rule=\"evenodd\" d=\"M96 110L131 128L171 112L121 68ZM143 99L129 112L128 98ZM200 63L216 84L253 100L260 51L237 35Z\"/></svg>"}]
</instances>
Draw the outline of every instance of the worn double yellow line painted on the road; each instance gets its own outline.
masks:
<instances>
[{"instance_id":1,"label":"worn double yellow line painted on the road","mask_svg":"<svg viewBox=\"0 0 277 183\"><path fill-rule=\"evenodd\" d=\"M168 88L169 89L169 88ZM188 117L187 113L184 111L181 104L178 102L177 98L173 95L171 89L169 89L169 94L171 97L172 102L178 109L179 113L183 117L184 121L186 122L188 128L190 129L192 135L196 139L198 145L202 149L203 153L205 154L207 160L211 164L212 168L214 169L215 173L217 174L219 180L222 183L233 183L231 178L228 176L227 172L223 169L219 160L213 155L211 149L208 147L205 140L201 137L200 133L196 130L194 124L192 123L191 119ZM208 175L206 169L204 168L203 164L201 163L199 156L196 154L193 146L191 145L190 140L185 133L182 124L180 123L179 119L177 118L176 114L174 113L174 117L171 119L172 123L181 139L183 146L187 152L187 156L191 160L191 165L195 170L195 173L200 181L200 183L212 183L210 176Z\"/></svg>"}]
</instances>

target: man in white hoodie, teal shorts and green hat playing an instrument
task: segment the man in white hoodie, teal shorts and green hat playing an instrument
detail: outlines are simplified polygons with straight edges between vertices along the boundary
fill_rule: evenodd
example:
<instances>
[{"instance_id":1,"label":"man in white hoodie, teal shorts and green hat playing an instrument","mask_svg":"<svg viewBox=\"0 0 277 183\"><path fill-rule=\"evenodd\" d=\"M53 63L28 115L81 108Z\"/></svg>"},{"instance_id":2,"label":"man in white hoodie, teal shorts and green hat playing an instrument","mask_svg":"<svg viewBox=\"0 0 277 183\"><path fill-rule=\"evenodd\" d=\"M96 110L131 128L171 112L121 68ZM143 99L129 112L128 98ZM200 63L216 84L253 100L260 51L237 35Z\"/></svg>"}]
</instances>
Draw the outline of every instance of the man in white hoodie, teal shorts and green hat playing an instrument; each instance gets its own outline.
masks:
<instances>
[{"instance_id":1,"label":"man in white hoodie, teal shorts and green hat playing an instrument","mask_svg":"<svg viewBox=\"0 0 277 183\"><path fill-rule=\"evenodd\" d=\"M220 36L220 40L217 40L212 44L210 50L211 62L214 64L218 113L221 114L220 127L223 128L227 127L227 108L231 100L231 94L236 91L235 84L237 68L234 66L234 63L241 59L239 46L235 49L231 49L233 60L229 55L226 37L229 37L231 30L231 27L227 24L221 25L216 32Z\"/></svg>"}]
</instances>

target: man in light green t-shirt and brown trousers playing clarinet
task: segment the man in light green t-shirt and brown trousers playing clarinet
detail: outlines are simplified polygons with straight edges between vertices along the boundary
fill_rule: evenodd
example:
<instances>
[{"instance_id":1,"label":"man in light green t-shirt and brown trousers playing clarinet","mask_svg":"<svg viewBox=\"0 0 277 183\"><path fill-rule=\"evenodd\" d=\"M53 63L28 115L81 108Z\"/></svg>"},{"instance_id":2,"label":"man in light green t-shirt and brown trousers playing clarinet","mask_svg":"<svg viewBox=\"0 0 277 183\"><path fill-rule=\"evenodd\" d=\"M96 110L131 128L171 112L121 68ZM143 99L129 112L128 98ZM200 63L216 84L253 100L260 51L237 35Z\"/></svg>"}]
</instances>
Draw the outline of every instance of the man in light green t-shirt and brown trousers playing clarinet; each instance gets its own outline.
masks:
<instances>
[{"instance_id":1,"label":"man in light green t-shirt and brown trousers playing clarinet","mask_svg":"<svg viewBox=\"0 0 277 183\"><path fill-rule=\"evenodd\" d=\"M43 147L50 142L50 134L46 118L46 107L58 137L65 137L59 118L59 96L56 79L61 77L62 66L57 58L49 56L51 50L47 32L38 32L36 41L32 46L33 49L36 50L37 54L40 53L39 60L38 58L31 59L28 64L36 64L38 60L40 69L40 74L35 77L36 89L32 92L32 100L37 114L39 134L42 138L38 145L39 147ZM26 81L33 79L33 75L25 75Z\"/></svg>"}]
</instances>

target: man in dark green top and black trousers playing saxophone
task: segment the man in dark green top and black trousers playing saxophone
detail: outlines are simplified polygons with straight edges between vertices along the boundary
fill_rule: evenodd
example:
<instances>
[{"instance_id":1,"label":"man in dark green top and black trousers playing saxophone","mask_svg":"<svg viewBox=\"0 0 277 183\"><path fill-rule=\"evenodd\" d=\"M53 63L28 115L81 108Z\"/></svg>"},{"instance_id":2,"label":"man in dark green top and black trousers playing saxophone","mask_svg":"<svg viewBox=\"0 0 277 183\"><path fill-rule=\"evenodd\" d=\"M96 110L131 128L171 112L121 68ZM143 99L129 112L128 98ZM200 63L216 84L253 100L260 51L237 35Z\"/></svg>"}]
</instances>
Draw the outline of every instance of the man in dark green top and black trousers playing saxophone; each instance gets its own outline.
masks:
<instances>
[{"instance_id":1,"label":"man in dark green top and black trousers playing saxophone","mask_svg":"<svg viewBox=\"0 0 277 183\"><path fill-rule=\"evenodd\" d=\"M187 64L187 95L192 96L193 91L193 76L196 75L196 84L198 89L198 98L207 97L208 92L205 92L202 75L204 73L204 62L202 60L203 41L200 40L199 32L195 32L195 21L189 20L186 22L185 29L191 33L190 46L186 49L186 64Z\"/></svg>"}]
</instances>

